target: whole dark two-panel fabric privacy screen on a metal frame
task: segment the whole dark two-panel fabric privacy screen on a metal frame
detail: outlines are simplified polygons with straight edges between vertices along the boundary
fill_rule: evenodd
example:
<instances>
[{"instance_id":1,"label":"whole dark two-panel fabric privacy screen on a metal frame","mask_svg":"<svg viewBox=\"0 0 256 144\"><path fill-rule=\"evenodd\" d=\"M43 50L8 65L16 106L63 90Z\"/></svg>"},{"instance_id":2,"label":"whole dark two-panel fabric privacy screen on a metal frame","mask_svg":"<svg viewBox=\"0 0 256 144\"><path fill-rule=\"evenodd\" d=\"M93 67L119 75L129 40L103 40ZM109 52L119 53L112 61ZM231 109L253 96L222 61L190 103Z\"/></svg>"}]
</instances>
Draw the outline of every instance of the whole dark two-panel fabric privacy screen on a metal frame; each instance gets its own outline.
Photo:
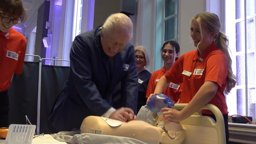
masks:
<instances>
[{"instance_id":1,"label":"whole dark two-panel fabric privacy screen on a metal frame","mask_svg":"<svg viewBox=\"0 0 256 144\"><path fill-rule=\"evenodd\" d=\"M8 90L10 101L9 124L37 124L39 62L24 62L22 74L14 74ZM56 133L48 117L55 99L68 78L70 67L42 65L40 133Z\"/></svg>"}]
</instances>

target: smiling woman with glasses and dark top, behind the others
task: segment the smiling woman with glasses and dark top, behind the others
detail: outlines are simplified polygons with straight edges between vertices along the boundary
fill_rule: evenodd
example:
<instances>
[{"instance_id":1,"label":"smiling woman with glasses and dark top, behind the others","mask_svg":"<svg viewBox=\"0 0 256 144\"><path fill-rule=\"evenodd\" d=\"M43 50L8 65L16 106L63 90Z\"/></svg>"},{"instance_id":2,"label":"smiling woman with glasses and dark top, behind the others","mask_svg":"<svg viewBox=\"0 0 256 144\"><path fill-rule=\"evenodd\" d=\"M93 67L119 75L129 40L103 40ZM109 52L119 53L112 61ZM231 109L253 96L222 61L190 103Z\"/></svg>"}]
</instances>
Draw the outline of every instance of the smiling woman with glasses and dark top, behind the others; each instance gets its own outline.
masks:
<instances>
[{"instance_id":1,"label":"smiling woman with glasses and dark top, behind the others","mask_svg":"<svg viewBox=\"0 0 256 144\"><path fill-rule=\"evenodd\" d=\"M138 109L140 110L142 106L146 104L146 89L148 87L148 82L151 76L151 73L146 70L149 66L149 55L144 46L136 46L135 47L135 60L137 69L139 72L138 79Z\"/></svg>"}]
</instances>

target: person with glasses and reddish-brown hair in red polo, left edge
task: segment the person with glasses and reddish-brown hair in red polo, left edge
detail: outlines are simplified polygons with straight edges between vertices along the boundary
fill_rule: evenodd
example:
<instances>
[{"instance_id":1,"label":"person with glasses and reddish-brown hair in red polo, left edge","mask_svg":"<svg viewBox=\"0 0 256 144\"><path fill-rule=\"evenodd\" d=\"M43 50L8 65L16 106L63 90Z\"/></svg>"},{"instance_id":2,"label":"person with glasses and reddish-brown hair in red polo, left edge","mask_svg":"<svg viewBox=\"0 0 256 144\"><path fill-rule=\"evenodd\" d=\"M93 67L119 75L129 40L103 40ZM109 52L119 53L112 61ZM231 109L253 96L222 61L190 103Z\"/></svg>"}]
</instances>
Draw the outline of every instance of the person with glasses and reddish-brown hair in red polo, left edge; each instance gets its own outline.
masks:
<instances>
[{"instance_id":1,"label":"person with glasses and reddish-brown hair in red polo, left edge","mask_svg":"<svg viewBox=\"0 0 256 144\"><path fill-rule=\"evenodd\" d=\"M14 73L21 74L26 38L12 27L26 18L21 0L0 0L0 127L8 127L8 92Z\"/></svg>"}]
</instances>

